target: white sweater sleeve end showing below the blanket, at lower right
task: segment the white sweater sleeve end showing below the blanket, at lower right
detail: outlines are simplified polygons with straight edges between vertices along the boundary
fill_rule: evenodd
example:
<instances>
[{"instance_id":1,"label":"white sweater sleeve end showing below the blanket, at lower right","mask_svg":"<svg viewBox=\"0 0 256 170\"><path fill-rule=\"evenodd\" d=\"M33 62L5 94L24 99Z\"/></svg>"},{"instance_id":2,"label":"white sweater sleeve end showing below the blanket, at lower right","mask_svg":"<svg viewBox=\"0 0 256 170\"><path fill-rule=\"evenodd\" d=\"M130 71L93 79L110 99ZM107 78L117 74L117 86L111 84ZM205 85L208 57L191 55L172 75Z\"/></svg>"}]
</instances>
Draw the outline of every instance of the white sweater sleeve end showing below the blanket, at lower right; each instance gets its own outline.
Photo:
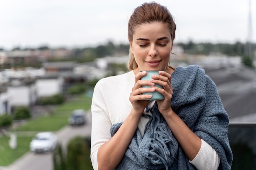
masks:
<instances>
[{"instance_id":1,"label":"white sweater sleeve end showing below the blanket, at lower right","mask_svg":"<svg viewBox=\"0 0 256 170\"><path fill-rule=\"evenodd\" d=\"M189 161L198 170L218 170L220 165L220 157L216 150L214 150L207 142L202 140L201 148L198 155Z\"/></svg>"}]
</instances>

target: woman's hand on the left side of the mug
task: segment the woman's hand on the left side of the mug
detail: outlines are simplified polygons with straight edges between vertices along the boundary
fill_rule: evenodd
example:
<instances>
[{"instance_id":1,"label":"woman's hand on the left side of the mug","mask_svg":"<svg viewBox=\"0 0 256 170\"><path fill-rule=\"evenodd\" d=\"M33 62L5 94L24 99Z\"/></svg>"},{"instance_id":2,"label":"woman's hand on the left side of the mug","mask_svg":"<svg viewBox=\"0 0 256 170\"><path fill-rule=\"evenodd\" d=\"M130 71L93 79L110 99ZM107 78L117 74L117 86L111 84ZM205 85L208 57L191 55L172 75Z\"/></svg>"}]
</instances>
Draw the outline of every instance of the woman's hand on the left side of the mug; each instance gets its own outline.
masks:
<instances>
[{"instance_id":1,"label":"woman's hand on the left side of the mug","mask_svg":"<svg viewBox=\"0 0 256 170\"><path fill-rule=\"evenodd\" d=\"M132 110L142 115L144 109L149 103L149 100L144 99L150 99L152 98L152 95L141 95L141 93L146 92L153 92L155 91L155 88L142 88L141 86L154 86L155 84L153 82L147 81L147 80L141 80L141 77L145 76L147 74L146 71L139 72L137 75L135 75L135 84L132 88L132 92L130 93L129 100L132 104Z\"/></svg>"}]
</instances>

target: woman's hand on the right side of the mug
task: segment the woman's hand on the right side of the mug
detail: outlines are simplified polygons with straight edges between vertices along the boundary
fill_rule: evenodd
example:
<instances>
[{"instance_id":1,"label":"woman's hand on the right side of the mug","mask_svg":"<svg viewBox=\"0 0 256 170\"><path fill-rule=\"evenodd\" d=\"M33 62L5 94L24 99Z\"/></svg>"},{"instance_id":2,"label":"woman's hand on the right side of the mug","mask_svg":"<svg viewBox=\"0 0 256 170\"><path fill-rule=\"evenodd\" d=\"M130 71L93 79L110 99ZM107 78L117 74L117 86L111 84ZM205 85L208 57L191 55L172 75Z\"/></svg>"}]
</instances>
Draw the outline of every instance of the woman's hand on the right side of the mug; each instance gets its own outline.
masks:
<instances>
[{"instance_id":1,"label":"woman's hand on the right side of the mug","mask_svg":"<svg viewBox=\"0 0 256 170\"><path fill-rule=\"evenodd\" d=\"M170 111L172 111L171 99L173 96L171 75L165 71L159 71L159 75L153 75L150 82L163 86L163 89L156 86L153 87L156 91L164 96L164 100L157 100L158 109L159 112L162 113L162 115L164 115L165 113L170 113Z\"/></svg>"}]
</instances>

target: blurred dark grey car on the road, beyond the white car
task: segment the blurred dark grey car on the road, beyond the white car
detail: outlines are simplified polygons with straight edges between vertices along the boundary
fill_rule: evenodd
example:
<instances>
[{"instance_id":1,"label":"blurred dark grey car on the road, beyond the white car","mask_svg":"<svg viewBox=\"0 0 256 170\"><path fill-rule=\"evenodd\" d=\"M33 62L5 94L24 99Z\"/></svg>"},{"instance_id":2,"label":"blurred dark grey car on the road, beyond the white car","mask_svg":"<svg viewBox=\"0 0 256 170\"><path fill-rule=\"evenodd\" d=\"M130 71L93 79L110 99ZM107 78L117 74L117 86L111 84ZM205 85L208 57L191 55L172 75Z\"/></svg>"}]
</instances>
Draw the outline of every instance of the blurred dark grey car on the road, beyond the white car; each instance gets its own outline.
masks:
<instances>
[{"instance_id":1,"label":"blurred dark grey car on the road, beyond the white car","mask_svg":"<svg viewBox=\"0 0 256 170\"><path fill-rule=\"evenodd\" d=\"M79 126L85 124L85 111L76 109L72 111L72 115L68 118L68 123L71 126Z\"/></svg>"}]
</instances>

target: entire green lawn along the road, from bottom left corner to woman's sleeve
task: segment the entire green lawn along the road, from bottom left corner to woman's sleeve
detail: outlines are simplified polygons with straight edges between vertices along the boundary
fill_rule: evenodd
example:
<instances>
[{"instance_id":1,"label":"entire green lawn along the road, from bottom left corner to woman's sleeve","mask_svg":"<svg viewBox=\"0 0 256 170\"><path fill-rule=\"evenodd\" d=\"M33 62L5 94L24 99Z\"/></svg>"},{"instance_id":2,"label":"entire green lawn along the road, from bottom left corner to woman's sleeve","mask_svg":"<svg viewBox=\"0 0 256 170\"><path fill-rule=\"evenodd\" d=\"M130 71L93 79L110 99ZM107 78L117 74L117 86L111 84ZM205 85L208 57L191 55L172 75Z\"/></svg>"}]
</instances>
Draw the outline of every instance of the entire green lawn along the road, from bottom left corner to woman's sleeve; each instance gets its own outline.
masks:
<instances>
[{"instance_id":1,"label":"entire green lawn along the road, from bottom left corner to woman's sleeve","mask_svg":"<svg viewBox=\"0 0 256 170\"><path fill-rule=\"evenodd\" d=\"M89 110L92 98L85 94L79 95L76 99L65 102L58 106L49 116L29 119L27 123L17 129L11 129L18 134L18 146L16 150L9 147L9 137L0 137L0 166L8 166L21 155L29 151L29 142L38 131L58 131L68 124L67 119L74 109ZM26 137L21 137L22 132L29 131Z\"/></svg>"}]
</instances>

